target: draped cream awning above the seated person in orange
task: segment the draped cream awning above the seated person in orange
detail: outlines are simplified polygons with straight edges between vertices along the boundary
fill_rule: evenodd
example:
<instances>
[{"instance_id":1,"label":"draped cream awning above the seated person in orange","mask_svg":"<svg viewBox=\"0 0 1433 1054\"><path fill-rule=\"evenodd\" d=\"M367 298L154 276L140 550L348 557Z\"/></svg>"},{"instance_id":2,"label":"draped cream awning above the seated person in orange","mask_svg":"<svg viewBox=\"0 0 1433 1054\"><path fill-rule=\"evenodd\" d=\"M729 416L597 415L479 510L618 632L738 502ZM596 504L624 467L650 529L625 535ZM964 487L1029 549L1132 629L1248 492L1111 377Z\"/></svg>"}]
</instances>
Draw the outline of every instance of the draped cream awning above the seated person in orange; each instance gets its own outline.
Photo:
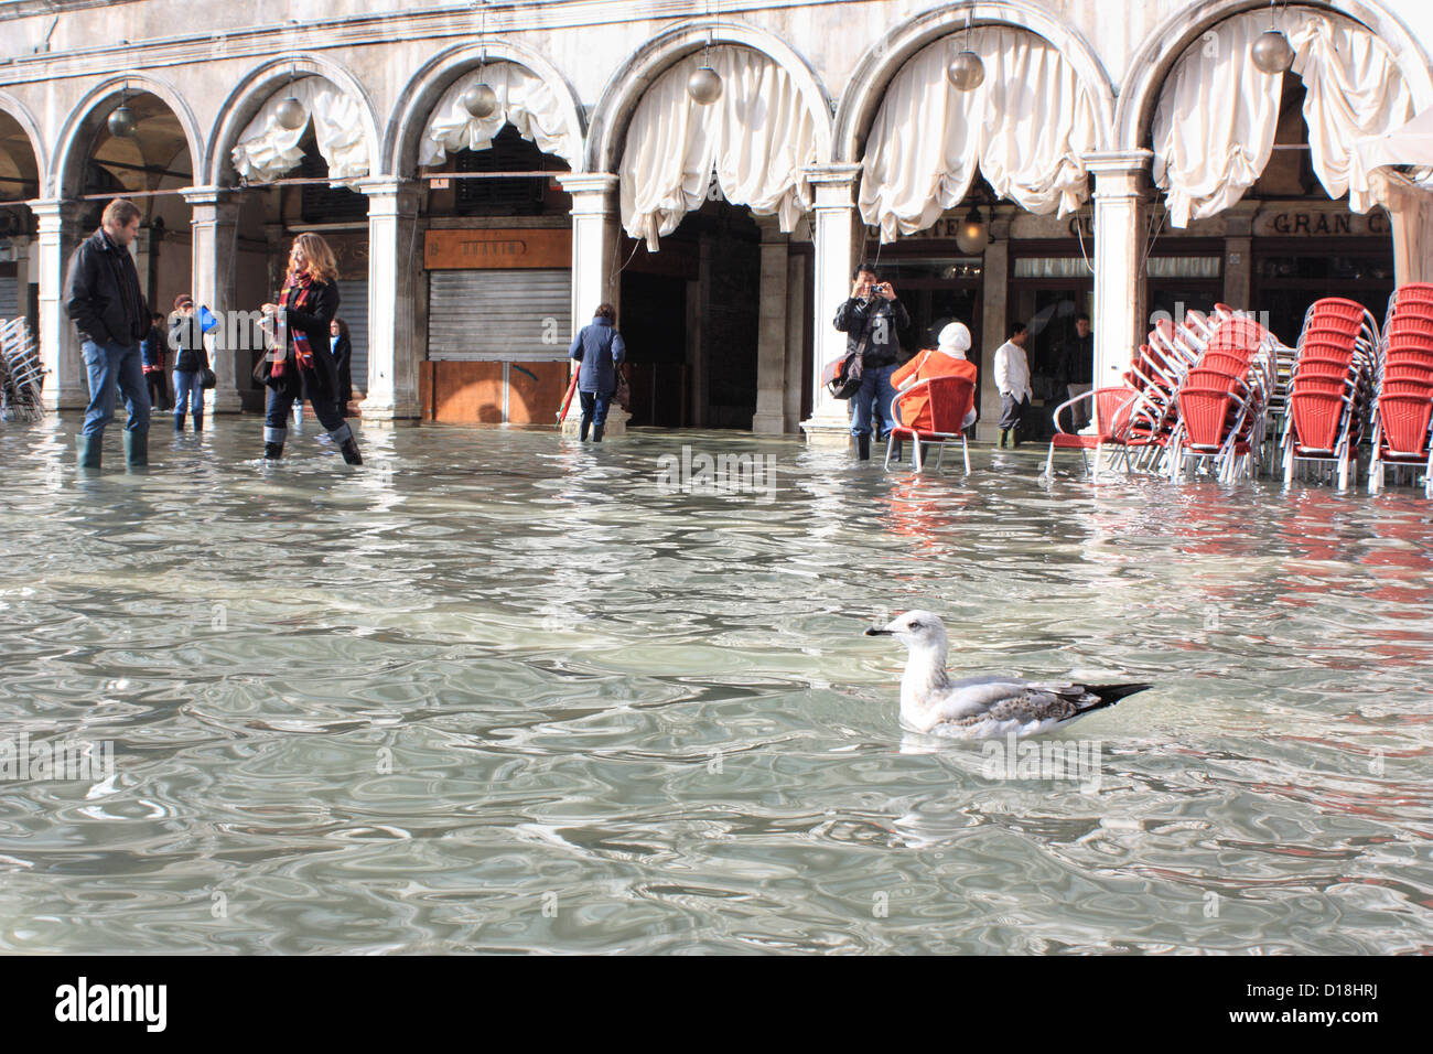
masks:
<instances>
[{"instance_id":1,"label":"draped cream awning above the seated person in orange","mask_svg":"<svg viewBox=\"0 0 1433 1054\"><path fill-rule=\"evenodd\" d=\"M969 47L984 62L972 92L946 79L967 46L957 33L910 59L886 89L861 158L861 217L881 241L930 227L976 172L1030 212L1065 215L1086 199L1082 155L1098 146L1098 109L1075 67L1033 33L984 26Z\"/></svg>"}]
</instances>

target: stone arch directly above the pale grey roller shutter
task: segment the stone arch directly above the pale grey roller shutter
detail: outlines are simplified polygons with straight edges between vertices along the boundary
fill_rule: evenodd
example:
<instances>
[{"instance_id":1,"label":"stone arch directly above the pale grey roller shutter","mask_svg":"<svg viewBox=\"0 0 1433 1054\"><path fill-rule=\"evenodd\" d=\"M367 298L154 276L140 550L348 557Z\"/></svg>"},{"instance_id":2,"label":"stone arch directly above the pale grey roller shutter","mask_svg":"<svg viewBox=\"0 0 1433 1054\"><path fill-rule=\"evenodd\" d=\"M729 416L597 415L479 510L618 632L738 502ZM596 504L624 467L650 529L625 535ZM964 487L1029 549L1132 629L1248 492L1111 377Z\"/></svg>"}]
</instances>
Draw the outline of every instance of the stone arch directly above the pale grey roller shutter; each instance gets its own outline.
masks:
<instances>
[{"instance_id":1,"label":"stone arch directly above the pale grey roller shutter","mask_svg":"<svg viewBox=\"0 0 1433 1054\"><path fill-rule=\"evenodd\" d=\"M572 85L556 66L530 47L496 40L489 42L486 46L457 44L440 52L426 62L408 83L404 85L400 96L403 102L394 109L393 118L384 129L384 172L407 178L417 171L418 141L423 138L423 129L433 113L433 108L437 106L438 99L456 80L481 65L484 50L489 62L502 60L526 66L553 89L562 100L567 130L583 149L577 161L583 161L586 156L586 129L582 120L582 105L577 102L577 93L572 89ZM576 171L580 172L583 169L579 168Z\"/></svg>"}]
</instances>

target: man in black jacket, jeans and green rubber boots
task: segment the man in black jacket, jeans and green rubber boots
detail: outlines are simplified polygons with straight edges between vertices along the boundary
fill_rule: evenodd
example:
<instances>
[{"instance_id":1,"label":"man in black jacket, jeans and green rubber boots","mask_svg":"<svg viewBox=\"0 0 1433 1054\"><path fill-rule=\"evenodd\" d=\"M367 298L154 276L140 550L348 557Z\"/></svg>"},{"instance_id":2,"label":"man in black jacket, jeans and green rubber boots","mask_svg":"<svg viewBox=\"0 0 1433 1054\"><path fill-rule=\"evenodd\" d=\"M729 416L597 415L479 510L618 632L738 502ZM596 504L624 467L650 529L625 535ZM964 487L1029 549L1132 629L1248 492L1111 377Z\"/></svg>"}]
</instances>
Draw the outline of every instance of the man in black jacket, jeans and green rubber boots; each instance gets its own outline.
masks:
<instances>
[{"instance_id":1,"label":"man in black jacket, jeans and green rubber boots","mask_svg":"<svg viewBox=\"0 0 1433 1054\"><path fill-rule=\"evenodd\" d=\"M149 330L149 305L129 242L139 234L139 208L116 198L105 206L100 227L80 242L64 281L64 308L83 340L90 402L80 430L80 466L100 466L105 426L115 420L115 387L125 396L125 459L149 463L149 390L139 341Z\"/></svg>"}]
</instances>

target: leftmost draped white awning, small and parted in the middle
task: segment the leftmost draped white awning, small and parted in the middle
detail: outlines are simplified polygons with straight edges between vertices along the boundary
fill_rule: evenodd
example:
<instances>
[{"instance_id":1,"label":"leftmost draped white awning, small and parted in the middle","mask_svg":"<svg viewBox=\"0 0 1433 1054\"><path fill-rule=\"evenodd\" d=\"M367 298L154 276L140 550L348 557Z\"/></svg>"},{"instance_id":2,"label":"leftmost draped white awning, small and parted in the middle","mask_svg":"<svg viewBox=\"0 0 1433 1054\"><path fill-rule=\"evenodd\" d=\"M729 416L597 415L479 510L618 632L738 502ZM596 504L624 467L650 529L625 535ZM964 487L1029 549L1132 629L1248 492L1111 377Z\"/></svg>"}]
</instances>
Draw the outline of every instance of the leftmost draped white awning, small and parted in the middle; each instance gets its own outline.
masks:
<instances>
[{"instance_id":1,"label":"leftmost draped white awning, small and parted in the middle","mask_svg":"<svg viewBox=\"0 0 1433 1054\"><path fill-rule=\"evenodd\" d=\"M308 110L302 128L278 123L278 108L289 96ZM368 142L364 139L363 106L337 85L322 77L301 77L271 95L258 115L239 133L234 148L234 169L252 182L269 182L298 166L304 158L299 143L310 125L318 152L328 162L332 179L368 175Z\"/></svg>"}]
</instances>

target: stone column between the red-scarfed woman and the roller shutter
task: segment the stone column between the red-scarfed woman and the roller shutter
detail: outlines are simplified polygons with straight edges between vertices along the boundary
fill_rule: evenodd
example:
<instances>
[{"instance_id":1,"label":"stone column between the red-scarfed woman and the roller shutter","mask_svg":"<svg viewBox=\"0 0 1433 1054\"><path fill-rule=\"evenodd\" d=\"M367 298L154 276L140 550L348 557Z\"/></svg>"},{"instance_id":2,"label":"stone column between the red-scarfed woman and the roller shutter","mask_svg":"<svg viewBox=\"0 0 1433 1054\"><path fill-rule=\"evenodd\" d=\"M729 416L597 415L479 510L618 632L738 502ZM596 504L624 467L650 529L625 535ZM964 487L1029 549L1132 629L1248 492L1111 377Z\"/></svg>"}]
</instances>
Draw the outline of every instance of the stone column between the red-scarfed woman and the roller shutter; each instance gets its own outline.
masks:
<instances>
[{"instance_id":1,"label":"stone column between the red-scarfed woman and the roller shutter","mask_svg":"<svg viewBox=\"0 0 1433 1054\"><path fill-rule=\"evenodd\" d=\"M420 191L401 179L368 179L358 188L368 195L368 381L358 412L364 424L417 424Z\"/></svg>"}]
</instances>

